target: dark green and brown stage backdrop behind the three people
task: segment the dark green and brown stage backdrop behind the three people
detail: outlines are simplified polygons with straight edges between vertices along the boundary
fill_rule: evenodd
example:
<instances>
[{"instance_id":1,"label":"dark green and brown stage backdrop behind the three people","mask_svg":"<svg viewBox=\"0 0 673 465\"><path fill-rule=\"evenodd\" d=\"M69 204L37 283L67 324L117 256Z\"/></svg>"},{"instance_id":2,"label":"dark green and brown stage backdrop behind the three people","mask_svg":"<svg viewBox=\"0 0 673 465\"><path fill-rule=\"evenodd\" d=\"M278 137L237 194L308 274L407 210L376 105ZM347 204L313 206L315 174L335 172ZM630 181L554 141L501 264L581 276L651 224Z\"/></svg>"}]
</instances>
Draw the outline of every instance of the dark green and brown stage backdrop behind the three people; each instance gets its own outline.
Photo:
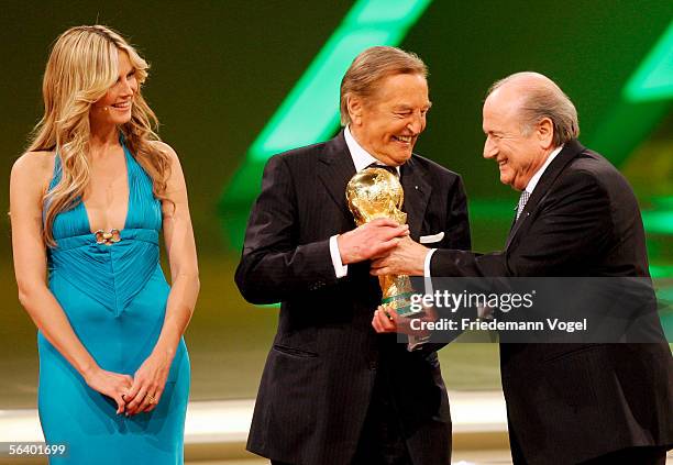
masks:
<instances>
[{"instance_id":1,"label":"dark green and brown stage backdrop behind the three people","mask_svg":"<svg viewBox=\"0 0 673 465\"><path fill-rule=\"evenodd\" d=\"M247 150L351 1L68 1L0 4L0 206L9 175L42 111L49 44L71 25L110 25L152 65L144 93L161 135L180 155L197 235L202 290L186 339L192 399L253 397L277 309L243 301L233 285L245 202L222 198ZM629 177L646 214L652 272L673 288L673 54L664 91L648 101L625 87L669 31L670 0L450 1L430 3L401 42L430 67L433 108L417 152L463 175L475 248L504 242L516 193L481 157L485 89L518 70L552 77L575 102L585 145ZM669 45L669 48L673 45ZM333 96L334 109L339 96ZM249 182L258 185L260 178ZM9 220L0 222L0 408L34 407L35 329L16 300ZM320 309L317 309L320 311ZM442 351L454 389L499 387L495 344Z\"/></svg>"}]
</instances>

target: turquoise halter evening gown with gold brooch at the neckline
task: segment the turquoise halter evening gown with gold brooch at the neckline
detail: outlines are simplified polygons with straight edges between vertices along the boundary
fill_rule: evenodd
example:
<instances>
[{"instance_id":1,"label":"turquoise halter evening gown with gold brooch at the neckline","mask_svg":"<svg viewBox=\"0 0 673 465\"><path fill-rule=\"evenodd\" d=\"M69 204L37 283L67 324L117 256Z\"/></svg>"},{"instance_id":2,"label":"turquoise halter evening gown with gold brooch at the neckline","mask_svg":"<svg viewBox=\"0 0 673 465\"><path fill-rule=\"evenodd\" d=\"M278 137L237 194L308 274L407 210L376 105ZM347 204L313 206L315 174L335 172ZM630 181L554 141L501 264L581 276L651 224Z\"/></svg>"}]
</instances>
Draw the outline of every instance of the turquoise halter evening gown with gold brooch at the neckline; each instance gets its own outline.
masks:
<instances>
[{"instance_id":1,"label":"turquoise halter evening gown with gold brooch at the neckline","mask_svg":"<svg viewBox=\"0 0 673 465\"><path fill-rule=\"evenodd\" d=\"M123 144L123 141L122 141ZM159 266L161 202L152 181L124 146L129 210L121 241L97 244L84 202L54 222L48 247L49 289L98 365L133 376L152 352L164 322L169 286ZM56 156L51 187L60 178ZM117 403L89 388L41 334L38 410L47 443L66 444L52 464L181 464L190 366L177 347L156 409L126 418Z\"/></svg>"}]
</instances>

